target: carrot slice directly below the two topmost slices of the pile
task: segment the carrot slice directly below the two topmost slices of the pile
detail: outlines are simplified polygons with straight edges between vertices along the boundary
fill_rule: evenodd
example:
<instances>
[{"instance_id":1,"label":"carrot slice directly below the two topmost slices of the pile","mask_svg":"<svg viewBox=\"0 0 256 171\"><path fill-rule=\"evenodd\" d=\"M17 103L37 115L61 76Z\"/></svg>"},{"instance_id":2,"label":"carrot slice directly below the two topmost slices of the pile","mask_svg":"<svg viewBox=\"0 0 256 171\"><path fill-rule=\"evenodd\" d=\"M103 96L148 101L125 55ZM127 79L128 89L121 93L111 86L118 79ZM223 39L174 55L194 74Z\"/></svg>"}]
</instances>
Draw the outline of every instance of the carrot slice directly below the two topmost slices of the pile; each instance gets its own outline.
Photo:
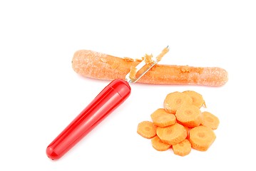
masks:
<instances>
[{"instance_id":1,"label":"carrot slice directly below the two topmost slices of the pile","mask_svg":"<svg viewBox=\"0 0 256 171\"><path fill-rule=\"evenodd\" d=\"M183 105L176 111L176 118L188 128L199 126L203 122L201 111L195 105Z\"/></svg>"}]
</instances>

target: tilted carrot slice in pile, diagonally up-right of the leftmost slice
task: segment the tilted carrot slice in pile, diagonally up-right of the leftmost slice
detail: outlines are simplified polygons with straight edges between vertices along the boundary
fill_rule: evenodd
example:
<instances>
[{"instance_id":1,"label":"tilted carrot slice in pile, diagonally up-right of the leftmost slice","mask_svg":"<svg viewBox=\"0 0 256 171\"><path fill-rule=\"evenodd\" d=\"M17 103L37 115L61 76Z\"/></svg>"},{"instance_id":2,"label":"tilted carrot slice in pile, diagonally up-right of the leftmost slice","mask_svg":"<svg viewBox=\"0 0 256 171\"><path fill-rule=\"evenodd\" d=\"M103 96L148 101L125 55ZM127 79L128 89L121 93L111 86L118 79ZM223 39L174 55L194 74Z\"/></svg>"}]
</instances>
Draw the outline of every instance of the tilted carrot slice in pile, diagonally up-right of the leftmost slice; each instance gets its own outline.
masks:
<instances>
[{"instance_id":1,"label":"tilted carrot slice in pile, diagonally up-right of the leftmost slice","mask_svg":"<svg viewBox=\"0 0 256 171\"><path fill-rule=\"evenodd\" d=\"M176 123L175 115L167 113L163 108L158 108L151 115L154 125L165 127Z\"/></svg>"}]
</instances>

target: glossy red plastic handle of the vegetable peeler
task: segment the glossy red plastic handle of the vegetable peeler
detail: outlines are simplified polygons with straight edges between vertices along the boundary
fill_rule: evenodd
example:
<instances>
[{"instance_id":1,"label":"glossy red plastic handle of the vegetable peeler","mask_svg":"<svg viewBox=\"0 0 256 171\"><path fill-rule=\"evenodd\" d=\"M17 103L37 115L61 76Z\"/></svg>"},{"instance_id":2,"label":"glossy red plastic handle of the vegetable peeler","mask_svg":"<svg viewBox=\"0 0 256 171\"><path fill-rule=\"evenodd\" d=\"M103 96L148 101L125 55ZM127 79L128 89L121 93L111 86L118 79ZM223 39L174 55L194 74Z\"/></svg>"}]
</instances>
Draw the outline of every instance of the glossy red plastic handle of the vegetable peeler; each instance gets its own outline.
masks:
<instances>
[{"instance_id":1,"label":"glossy red plastic handle of the vegetable peeler","mask_svg":"<svg viewBox=\"0 0 256 171\"><path fill-rule=\"evenodd\" d=\"M51 160L57 160L101 123L115 108L130 95L130 86L126 81L112 81L96 98L61 132L46 148Z\"/></svg>"}]
</instances>

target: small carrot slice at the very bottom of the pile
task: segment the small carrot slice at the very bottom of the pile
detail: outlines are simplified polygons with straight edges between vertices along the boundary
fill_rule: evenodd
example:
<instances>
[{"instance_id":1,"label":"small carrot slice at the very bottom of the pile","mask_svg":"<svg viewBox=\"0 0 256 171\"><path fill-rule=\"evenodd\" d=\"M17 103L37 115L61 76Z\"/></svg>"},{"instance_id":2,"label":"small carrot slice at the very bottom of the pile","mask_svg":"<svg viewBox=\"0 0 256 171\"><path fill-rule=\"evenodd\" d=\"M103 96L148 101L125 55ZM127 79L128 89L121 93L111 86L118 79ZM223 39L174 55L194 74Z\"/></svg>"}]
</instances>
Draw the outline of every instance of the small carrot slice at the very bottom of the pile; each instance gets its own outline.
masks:
<instances>
[{"instance_id":1,"label":"small carrot slice at the very bottom of the pile","mask_svg":"<svg viewBox=\"0 0 256 171\"><path fill-rule=\"evenodd\" d=\"M191 144L188 139L173 145L173 152L175 155L185 156L191 152Z\"/></svg>"}]
</instances>

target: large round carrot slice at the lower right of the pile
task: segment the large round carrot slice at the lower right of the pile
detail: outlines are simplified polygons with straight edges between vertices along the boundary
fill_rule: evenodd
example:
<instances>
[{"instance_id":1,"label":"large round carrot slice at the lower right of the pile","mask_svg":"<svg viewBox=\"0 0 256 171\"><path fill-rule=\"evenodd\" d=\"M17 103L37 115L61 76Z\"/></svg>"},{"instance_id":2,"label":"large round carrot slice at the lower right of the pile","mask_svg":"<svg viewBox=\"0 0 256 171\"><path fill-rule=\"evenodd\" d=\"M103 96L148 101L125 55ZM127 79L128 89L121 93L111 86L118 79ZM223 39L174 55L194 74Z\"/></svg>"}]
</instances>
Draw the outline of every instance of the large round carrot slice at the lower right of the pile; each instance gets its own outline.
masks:
<instances>
[{"instance_id":1,"label":"large round carrot slice at the lower right of the pile","mask_svg":"<svg viewBox=\"0 0 256 171\"><path fill-rule=\"evenodd\" d=\"M206 151L215 141L216 135L212 129L200 125L190 130L189 141L195 150Z\"/></svg>"}]
</instances>

